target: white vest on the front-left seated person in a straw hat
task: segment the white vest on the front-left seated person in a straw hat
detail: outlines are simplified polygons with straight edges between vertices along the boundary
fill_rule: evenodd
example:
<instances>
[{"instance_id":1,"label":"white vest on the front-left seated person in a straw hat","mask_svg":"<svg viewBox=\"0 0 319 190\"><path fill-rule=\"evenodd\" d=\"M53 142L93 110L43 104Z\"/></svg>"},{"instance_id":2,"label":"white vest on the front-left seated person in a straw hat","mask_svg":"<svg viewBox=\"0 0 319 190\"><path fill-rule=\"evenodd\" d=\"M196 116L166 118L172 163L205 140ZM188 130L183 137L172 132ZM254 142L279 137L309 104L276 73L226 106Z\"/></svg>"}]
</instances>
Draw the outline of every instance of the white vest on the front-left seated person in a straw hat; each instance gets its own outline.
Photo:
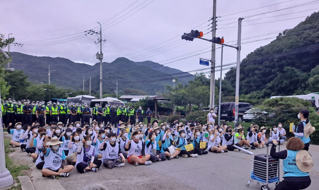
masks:
<instances>
[{"instance_id":1,"label":"white vest on the front-left seated person in a straw hat","mask_svg":"<svg viewBox=\"0 0 319 190\"><path fill-rule=\"evenodd\" d=\"M47 156L44 156L43 169L48 168L53 171L59 170L62 164L63 149L58 148L56 153L53 153L51 148L48 149L50 150L50 152Z\"/></svg>"}]
</instances>

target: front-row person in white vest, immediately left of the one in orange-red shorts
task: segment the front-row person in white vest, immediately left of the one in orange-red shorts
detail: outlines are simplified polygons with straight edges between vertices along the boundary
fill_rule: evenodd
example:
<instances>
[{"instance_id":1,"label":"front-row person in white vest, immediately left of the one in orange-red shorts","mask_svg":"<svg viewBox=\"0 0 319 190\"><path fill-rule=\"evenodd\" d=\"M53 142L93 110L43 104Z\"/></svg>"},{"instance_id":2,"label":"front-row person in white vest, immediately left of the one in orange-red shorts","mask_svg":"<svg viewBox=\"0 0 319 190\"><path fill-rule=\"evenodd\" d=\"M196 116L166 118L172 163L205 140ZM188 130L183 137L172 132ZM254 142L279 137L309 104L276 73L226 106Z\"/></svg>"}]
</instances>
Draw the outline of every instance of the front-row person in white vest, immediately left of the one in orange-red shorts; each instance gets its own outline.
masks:
<instances>
[{"instance_id":1,"label":"front-row person in white vest, immediately left of the one in orange-red shorts","mask_svg":"<svg viewBox=\"0 0 319 190\"><path fill-rule=\"evenodd\" d=\"M107 139L109 142L105 143ZM125 157L122 154L120 144L115 142L116 134L109 133L108 137L100 145L100 150L103 150L102 163L105 167L113 169L114 167L122 167L125 164Z\"/></svg>"}]
</instances>

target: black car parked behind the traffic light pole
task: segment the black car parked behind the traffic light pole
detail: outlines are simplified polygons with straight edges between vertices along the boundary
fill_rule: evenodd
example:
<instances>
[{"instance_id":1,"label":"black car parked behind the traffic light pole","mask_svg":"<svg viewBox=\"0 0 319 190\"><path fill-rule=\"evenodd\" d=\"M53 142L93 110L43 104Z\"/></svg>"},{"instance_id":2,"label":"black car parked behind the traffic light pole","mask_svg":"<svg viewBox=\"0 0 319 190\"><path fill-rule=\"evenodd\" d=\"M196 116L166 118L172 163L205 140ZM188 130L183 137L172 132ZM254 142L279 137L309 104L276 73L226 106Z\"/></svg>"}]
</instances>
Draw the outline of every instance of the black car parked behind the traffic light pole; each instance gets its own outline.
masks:
<instances>
[{"instance_id":1,"label":"black car parked behind the traffic light pole","mask_svg":"<svg viewBox=\"0 0 319 190\"><path fill-rule=\"evenodd\" d=\"M253 106L249 103L238 103L238 122L243 121L243 115ZM218 113L218 112L217 112ZM235 120L235 102L224 102L220 105L220 120L234 121Z\"/></svg>"}]
</instances>

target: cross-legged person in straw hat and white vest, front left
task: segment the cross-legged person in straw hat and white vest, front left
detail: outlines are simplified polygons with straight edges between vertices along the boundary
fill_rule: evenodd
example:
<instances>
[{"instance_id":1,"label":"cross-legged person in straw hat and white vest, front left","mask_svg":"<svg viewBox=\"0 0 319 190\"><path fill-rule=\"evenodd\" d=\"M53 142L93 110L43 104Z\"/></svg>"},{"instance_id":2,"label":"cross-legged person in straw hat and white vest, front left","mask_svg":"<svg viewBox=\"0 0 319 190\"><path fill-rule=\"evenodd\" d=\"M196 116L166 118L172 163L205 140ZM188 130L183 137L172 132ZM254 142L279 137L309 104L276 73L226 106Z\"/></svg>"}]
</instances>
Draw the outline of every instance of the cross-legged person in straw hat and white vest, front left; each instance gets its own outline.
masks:
<instances>
[{"instance_id":1,"label":"cross-legged person in straw hat and white vest, front left","mask_svg":"<svg viewBox=\"0 0 319 190\"><path fill-rule=\"evenodd\" d=\"M45 136L45 140L42 146L42 154L44 155L44 165L41 170L43 177L50 177L55 179L55 176L69 177L69 172L73 170L73 166L64 166L65 154L62 148L59 148L63 142L58 138L53 137L49 139L49 136ZM46 146L50 146L46 148Z\"/></svg>"}]
</instances>

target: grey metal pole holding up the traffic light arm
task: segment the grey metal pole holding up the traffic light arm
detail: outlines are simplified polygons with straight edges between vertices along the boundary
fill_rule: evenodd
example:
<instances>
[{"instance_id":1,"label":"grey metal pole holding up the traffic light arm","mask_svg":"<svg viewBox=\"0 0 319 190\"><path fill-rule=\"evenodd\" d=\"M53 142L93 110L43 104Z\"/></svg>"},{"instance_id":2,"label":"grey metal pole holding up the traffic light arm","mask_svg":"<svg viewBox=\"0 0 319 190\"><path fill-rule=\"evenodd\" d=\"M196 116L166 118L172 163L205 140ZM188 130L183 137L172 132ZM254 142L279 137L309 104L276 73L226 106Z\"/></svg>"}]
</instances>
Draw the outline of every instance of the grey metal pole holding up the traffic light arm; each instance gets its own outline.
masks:
<instances>
[{"instance_id":1,"label":"grey metal pole holding up the traffic light arm","mask_svg":"<svg viewBox=\"0 0 319 190\"><path fill-rule=\"evenodd\" d=\"M241 49L241 21L238 18L238 37L237 37L237 67L236 67L236 91L235 91L235 128L238 126L238 103L239 103L239 69L240 69L240 49Z\"/></svg>"}]
</instances>

